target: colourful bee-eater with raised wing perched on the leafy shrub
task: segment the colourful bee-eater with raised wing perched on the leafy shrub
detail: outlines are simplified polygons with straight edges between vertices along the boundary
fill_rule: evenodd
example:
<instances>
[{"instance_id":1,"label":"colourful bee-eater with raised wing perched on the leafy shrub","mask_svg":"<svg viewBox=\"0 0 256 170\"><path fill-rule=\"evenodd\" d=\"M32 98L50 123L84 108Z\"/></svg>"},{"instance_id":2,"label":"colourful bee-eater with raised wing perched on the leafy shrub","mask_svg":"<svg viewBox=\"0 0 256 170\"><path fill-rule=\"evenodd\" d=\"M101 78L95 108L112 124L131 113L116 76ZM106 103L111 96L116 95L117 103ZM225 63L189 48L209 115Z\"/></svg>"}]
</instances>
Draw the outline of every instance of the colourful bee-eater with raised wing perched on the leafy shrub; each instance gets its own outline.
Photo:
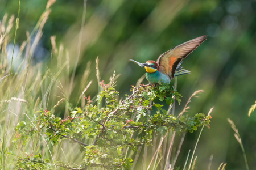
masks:
<instances>
[{"instance_id":1,"label":"colourful bee-eater with raised wing perched on the leafy shrub","mask_svg":"<svg viewBox=\"0 0 256 170\"><path fill-rule=\"evenodd\" d=\"M201 43L207 40L207 35L189 40L161 54L157 61L148 60L146 63L137 63L146 70L146 79L152 84L159 82L170 83L174 76L190 74L189 70L181 67L181 61L193 52Z\"/></svg>"}]
</instances>

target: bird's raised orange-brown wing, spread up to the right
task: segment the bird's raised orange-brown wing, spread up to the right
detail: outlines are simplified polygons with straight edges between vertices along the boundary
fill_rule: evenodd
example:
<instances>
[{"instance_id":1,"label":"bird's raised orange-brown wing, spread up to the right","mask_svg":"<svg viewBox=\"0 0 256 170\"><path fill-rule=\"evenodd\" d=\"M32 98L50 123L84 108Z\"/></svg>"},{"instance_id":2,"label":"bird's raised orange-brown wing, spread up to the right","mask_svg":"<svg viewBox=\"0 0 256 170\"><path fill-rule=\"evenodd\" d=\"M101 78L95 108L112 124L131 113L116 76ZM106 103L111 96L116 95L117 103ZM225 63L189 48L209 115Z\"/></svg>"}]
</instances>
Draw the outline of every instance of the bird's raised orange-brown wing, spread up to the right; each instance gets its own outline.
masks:
<instances>
[{"instance_id":1,"label":"bird's raised orange-brown wing, spread up to the right","mask_svg":"<svg viewBox=\"0 0 256 170\"><path fill-rule=\"evenodd\" d=\"M156 61L159 65L159 71L167 74L170 79L174 78L177 65L204 42L207 39L206 37L207 35L197 37L163 53Z\"/></svg>"}]
</instances>

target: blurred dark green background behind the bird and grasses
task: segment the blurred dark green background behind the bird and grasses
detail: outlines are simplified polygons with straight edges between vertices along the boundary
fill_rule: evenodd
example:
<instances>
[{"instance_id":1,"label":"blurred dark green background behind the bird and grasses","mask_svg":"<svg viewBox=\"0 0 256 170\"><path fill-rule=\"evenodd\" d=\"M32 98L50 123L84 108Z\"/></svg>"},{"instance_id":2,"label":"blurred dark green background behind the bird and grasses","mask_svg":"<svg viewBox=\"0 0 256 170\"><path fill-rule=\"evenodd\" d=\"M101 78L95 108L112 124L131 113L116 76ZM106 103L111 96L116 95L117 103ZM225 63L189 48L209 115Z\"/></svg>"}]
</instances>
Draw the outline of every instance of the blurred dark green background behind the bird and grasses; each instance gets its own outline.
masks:
<instances>
[{"instance_id":1,"label":"blurred dark green background behind the bird and grasses","mask_svg":"<svg viewBox=\"0 0 256 170\"><path fill-rule=\"evenodd\" d=\"M46 4L47 1L21 1L17 44L26 40L26 31L35 27ZM204 129L196 150L197 169L207 169L211 155L211 169L217 169L222 162L227 163L226 169L245 169L240 145L227 118L240 132L250 169L256 169L256 114L247 116L256 100L256 1L88 0L85 26L80 33L83 9L84 1L73 0L57 1L51 7L39 44L43 55L35 56L35 62L51 65L50 37L56 35L57 45L64 44L72 58L72 71L79 56L80 38L75 83L81 83L86 63L92 61L88 82L93 80L93 86L89 94L97 94L94 61L99 56L102 80L108 82L114 70L121 74L117 90L122 97L144 74L144 69L129 59L156 60L176 45L207 34L207 41L184 60L183 66L191 74L177 79L183 102L176 105L175 114L181 112L194 91L203 89L205 92L192 100L187 113L208 113L214 107L211 128ZM6 13L16 16L17 11L18 1L0 0L1 19ZM71 102L77 97L75 92L72 94ZM61 113L61 109L58 111L56 114ZM198 134L199 131L185 137L177 166L183 166Z\"/></svg>"}]
</instances>

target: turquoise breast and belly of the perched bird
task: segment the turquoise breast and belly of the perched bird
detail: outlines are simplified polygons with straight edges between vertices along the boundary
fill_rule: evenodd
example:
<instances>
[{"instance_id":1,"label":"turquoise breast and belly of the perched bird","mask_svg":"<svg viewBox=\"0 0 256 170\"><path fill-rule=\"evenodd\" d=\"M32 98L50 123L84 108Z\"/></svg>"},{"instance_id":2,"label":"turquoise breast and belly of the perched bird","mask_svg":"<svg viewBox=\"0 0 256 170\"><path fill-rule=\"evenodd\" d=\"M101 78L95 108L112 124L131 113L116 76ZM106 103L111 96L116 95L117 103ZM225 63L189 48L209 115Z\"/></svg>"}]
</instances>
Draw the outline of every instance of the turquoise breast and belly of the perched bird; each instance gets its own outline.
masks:
<instances>
[{"instance_id":1,"label":"turquoise breast and belly of the perched bird","mask_svg":"<svg viewBox=\"0 0 256 170\"><path fill-rule=\"evenodd\" d=\"M156 71L155 73L146 72L146 79L150 83L158 83L158 82L170 83L169 76L163 73L160 73L159 71Z\"/></svg>"}]
</instances>

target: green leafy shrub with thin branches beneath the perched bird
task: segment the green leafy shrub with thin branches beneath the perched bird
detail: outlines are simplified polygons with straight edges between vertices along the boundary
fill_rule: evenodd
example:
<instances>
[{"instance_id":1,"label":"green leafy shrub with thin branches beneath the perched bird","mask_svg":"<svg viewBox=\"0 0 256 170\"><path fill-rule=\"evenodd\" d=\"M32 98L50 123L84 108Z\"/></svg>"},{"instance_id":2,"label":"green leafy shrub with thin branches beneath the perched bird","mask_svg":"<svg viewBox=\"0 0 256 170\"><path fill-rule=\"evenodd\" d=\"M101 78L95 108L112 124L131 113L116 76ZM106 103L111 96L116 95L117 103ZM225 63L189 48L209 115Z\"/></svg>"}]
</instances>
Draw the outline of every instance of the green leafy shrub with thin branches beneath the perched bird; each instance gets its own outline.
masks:
<instances>
[{"instance_id":1,"label":"green leafy shrub with thin branches beneath the perched bird","mask_svg":"<svg viewBox=\"0 0 256 170\"><path fill-rule=\"evenodd\" d=\"M210 116L203 113L192 117L187 115L172 116L166 109L176 99L182 97L169 84L154 86L132 86L131 95L119 101L119 92L114 84L99 83L102 91L96 102L85 97L84 108L76 107L69 117L56 117L51 111L40 111L34 125L30 122L19 122L16 130L26 139L41 131L46 141L58 145L62 140L79 143L84 163L78 167L69 167L64 163L42 159L42 155L18 156L16 166L19 168L49 168L54 164L63 168L84 169L101 167L106 169L131 168L133 159L126 151L138 151L138 146L153 145L152 136L166 134L168 130L181 133L193 132L200 126L209 127ZM96 104L93 104L96 103ZM38 125L38 128L35 128ZM88 140L90 138L90 140ZM84 143L84 141L90 141Z\"/></svg>"}]
</instances>

